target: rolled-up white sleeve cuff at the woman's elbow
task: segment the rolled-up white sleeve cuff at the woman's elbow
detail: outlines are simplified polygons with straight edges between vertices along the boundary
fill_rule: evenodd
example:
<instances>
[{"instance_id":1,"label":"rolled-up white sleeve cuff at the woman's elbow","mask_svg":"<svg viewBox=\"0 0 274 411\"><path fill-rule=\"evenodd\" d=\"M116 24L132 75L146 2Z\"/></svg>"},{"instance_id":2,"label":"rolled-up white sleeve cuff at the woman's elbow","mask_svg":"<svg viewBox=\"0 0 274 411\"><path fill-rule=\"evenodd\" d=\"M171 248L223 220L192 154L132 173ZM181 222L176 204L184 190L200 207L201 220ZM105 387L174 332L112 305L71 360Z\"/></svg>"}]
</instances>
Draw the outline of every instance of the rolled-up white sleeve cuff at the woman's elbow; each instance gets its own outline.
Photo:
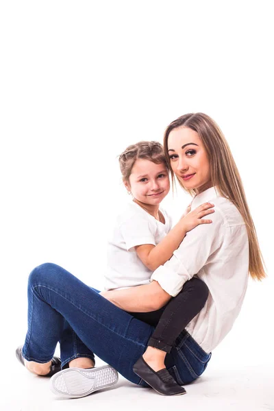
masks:
<instances>
[{"instance_id":1,"label":"rolled-up white sleeve cuff at the woman's elbow","mask_svg":"<svg viewBox=\"0 0 274 411\"><path fill-rule=\"evenodd\" d=\"M174 258L174 256L173 256ZM169 261L166 262L163 266L158 267L151 275L151 281L157 281L162 289L166 291L171 297L176 297L177 294L182 290L184 283L192 277L179 262L179 267L172 270L172 267L169 267Z\"/></svg>"}]
</instances>

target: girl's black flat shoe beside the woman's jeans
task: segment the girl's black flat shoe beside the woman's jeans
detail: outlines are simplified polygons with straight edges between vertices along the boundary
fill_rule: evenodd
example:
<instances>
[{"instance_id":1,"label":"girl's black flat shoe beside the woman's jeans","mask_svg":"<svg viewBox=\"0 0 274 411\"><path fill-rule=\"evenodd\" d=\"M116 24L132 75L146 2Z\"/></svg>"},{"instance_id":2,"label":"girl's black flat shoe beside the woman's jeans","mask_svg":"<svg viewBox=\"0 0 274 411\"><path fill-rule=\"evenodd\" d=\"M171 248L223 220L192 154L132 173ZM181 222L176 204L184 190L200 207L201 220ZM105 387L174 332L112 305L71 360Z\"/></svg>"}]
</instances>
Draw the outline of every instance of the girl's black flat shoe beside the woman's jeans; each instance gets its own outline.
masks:
<instances>
[{"instance_id":1,"label":"girl's black flat shoe beside the woman's jeans","mask_svg":"<svg viewBox=\"0 0 274 411\"><path fill-rule=\"evenodd\" d=\"M186 394L184 387L179 386L175 379L171 377L167 369L154 371L144 358L140 357L133 366L133 371L149 384L157 393L162 395L183 395Z\"/></svg>"}]
</instances>

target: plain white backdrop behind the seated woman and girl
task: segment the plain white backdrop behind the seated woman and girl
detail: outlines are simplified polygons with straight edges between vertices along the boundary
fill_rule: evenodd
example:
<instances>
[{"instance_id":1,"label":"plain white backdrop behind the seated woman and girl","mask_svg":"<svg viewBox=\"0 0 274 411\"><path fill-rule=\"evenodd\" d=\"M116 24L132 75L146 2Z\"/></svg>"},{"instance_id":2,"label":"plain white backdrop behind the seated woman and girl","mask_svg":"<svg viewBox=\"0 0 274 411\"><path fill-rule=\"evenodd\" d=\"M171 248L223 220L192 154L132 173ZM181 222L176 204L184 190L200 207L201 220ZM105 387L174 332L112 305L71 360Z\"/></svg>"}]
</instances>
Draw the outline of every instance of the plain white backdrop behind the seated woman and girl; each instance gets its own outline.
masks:
<instances>
[{"instance_id":1,"label":"plain white backdrop behind the seated woman and girl","mask_svg":"<svg viewBox=\"0 0 274 411\"><path fill-rule=\"evenodd\" d=\"M250 282L212 363L273 362L273 1L1 1L1 352L27 327L27 277L55 262L102 288L128 196L116 158L205 112L229 142L269 277ZM178 189L176 218L190 202Z\"/></svg>"}]
</instances>

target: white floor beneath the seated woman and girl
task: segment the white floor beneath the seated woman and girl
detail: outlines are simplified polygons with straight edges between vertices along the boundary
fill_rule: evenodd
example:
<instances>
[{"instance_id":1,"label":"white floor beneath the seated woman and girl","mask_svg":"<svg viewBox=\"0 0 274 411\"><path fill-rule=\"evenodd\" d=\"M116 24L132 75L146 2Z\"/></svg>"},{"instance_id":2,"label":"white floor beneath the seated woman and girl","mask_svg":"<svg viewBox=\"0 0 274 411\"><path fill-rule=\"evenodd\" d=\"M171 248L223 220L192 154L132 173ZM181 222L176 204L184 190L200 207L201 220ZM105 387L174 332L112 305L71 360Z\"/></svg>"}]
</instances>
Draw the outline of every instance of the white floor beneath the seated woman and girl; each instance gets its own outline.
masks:
<instances>
[{"instance_id":1,"label":"white floor beneath the seated woman and girl","mask_svg":"<svg viewBox=\"0 0 274 411\"><path fill-rule=\"evenodd\" d=\"M101 365L97 362L97 365ZM115 386L81 399L60 399L49 390L49 379L36 377L12 358L2 373L0 409L36 410L274 410L273 366L219 369L210 364L197 382L186 386L187 394L163 397L140 388L120 376Z\"/></svg>"}]
</instances>

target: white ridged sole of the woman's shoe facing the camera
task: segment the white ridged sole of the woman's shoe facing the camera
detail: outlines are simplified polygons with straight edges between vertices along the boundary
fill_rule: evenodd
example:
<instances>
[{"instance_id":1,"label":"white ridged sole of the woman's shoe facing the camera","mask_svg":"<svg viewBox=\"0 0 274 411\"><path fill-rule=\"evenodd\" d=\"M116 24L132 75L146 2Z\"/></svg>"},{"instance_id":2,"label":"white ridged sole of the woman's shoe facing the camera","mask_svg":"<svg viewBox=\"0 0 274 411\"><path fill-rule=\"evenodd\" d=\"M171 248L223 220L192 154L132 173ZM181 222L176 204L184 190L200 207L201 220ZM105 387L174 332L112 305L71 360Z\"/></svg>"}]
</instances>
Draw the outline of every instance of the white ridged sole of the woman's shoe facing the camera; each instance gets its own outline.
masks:
<instances>
[{"instance_id":1,"label":"white ridged sole of the woman's shoe facing the camera","mask_svg":"<svg viewBox=\"0 0 274 411\"><path fill-rule=\"evenodd\" d=\"M64 397L86 397L101 388L112 386L118 381L118 373L111 366L94 369L64 369L51 377L51 390Z\"/></svg>"}]
</instances>

